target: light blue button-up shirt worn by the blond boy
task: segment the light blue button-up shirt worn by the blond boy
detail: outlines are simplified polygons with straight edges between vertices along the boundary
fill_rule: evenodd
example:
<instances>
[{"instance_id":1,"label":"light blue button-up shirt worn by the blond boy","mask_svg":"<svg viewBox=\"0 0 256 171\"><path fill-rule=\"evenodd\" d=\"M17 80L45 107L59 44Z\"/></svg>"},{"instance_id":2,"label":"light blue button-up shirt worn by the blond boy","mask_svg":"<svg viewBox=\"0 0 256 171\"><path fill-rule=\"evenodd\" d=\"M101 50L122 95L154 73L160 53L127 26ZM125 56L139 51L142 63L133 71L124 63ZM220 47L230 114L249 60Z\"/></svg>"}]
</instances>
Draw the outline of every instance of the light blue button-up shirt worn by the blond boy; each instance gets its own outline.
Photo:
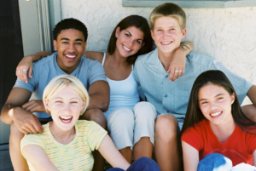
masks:
<instances>
[{"instance_id":1,"label":"light blue button-up shirt worn by the blond boy","mask_svg":"<svg viewBox=\"0 0 256 171\"><path fill-rule=\"evenodd\" d=\"M230 79L240 104L252 83L229 71L218 60L207 54L192 52L186 57L186 70L182 77L169 82L169 74L160 59L158 49L139 56L135 63L134 77L140 96L154 105L158 115L170 113L177 118L185 117L189 95L195 78L207 70L220 70Z\"/></svg>"}]
</instances>

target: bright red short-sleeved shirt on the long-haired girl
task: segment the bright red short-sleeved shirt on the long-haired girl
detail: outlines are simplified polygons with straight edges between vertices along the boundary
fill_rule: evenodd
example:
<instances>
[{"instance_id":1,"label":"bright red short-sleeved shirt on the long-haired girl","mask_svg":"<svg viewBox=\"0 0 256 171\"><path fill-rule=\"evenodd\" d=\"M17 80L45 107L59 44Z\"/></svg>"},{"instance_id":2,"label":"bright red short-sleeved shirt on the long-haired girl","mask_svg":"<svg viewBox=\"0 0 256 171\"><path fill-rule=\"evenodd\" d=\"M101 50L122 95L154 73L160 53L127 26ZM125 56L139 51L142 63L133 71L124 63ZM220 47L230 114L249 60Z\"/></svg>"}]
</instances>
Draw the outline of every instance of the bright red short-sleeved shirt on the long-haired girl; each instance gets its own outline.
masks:
<instances>
[{"instance_id":1,"label":"bright red short-sleeved shirt on the long-haired girl","mask_svg":"<svg viewBox=\"0 0 256 171\"><path fill-rule=\"evenodd\" d=\"M220 143L212 132L208 120L202 120L193 127L187 128L182 140L199 151L199 159L210 153L219 153L229 157L233 166L241 162L253 165L253 151L256 149L256 135L247 134L236 125L230 138Z\"/></svg>"}]
</instances>

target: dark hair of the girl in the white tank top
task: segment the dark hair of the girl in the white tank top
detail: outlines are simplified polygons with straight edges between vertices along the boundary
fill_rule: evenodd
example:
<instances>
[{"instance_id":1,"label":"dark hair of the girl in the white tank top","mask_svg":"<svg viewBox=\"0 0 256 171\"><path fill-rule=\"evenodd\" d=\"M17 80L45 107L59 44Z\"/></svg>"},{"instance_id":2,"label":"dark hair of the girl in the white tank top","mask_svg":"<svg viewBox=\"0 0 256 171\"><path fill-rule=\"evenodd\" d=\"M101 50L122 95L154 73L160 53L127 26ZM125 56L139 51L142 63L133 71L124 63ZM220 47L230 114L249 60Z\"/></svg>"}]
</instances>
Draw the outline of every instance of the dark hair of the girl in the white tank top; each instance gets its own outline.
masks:
<instances>
[{"instance_id":1,"label":"dark hair of the girl in the white tank top","mask_svg":"<svg viewBox=\"0 0 256 171\"><path fill-rule=\"evenodd\" d=\"M128 64L134 64L135 60L137 60L137 56L141 54L148 54L152 50L153 40L151 38L150 28L148 26L148 21L139 15L130 15L125 17L125 19L121 20L119 24L114 27L111 37L108 42L108 54L113 54L116 48L117 38L115 37L115 31L117 27L119 27L119 31L123 31L130 26L135 26L141 31L143 31L143 47L140 48L136 54L133 54L127 58Z\"/></svg>"}]
</instances>

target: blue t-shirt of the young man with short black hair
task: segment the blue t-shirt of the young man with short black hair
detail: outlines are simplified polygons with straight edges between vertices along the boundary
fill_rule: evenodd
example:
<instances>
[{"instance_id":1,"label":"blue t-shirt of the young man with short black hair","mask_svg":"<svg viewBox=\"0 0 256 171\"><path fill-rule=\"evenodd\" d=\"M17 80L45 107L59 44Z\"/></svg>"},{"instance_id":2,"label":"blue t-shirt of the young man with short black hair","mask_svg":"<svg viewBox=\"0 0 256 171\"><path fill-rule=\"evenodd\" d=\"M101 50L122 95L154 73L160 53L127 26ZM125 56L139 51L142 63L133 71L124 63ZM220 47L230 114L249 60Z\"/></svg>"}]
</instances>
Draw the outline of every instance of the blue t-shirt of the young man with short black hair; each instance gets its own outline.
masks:
<instances>
[{"instance_id":1,"label":"blue t-shirt of the young man with short black hair","mask_svg":"<svg viewBox=\"0 0 256 171\"><path fill-rule=\"evenodd\" d=\"M51 54L42 60L33 63L32 78L28 78L28 83L25 83L20 78L17 78L15 88L25 88L32 92L33 100L42 100L44 88L50 80L56 76L67 74L62 71L56 61L57 52ZM91 83L99 80L107 82L105 71L102 65L96 60L90 60L85 55L82 56L79 66L70 74L78 77L88 90ZM38 118L50 117L46 112L35 112Z\"/></svg>"}]
</instances>

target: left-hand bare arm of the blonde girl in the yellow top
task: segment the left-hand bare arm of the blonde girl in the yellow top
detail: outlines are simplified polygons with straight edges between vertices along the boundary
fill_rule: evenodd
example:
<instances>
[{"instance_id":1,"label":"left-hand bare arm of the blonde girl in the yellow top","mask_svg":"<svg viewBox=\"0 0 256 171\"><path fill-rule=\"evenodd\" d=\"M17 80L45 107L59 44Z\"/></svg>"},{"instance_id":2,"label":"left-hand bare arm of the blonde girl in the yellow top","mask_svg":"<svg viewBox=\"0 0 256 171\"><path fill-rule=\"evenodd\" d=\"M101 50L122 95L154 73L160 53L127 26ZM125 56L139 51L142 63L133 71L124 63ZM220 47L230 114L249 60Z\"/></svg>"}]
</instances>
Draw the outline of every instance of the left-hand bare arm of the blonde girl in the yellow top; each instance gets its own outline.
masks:
<instances>
[{"instance_id":1,"label":"left-hand bare arm of the blonde girl in the yellow top","mask_svg":"<svg viewBox=\"0 0 256 171\"><path fill-rule=\"evenodd\" d=\"M39 145L26 145L23 147L23 153L26 156L27 161L38 171L59 170L52 162L50 162L44 149Z\"/></svg>"}]
</instances>

